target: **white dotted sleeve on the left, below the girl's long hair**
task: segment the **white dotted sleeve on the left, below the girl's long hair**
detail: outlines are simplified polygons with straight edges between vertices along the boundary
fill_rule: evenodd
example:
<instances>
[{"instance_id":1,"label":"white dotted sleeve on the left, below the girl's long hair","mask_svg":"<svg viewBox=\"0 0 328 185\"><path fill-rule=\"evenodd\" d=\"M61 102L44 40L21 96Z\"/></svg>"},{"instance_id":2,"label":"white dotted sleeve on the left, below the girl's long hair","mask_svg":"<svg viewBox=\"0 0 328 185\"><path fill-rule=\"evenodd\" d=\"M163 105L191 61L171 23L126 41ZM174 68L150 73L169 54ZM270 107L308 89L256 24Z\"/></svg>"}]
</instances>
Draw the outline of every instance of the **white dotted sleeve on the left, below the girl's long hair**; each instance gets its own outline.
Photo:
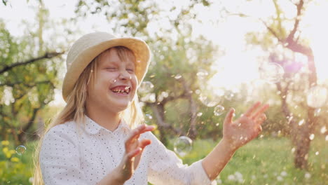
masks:
<instances>
[{"instance_id":1,"label":"white dotted sleeve on the left, below the girl's long hair","mask_svg":"<svg viewBox=\"0 0 328 185\"><path fill-rule=\"evenodd\" d=\"M76 135L73 128L63 124L46 133L39 158L44 184L86 184Z\"/></svg>"}]
</instances>

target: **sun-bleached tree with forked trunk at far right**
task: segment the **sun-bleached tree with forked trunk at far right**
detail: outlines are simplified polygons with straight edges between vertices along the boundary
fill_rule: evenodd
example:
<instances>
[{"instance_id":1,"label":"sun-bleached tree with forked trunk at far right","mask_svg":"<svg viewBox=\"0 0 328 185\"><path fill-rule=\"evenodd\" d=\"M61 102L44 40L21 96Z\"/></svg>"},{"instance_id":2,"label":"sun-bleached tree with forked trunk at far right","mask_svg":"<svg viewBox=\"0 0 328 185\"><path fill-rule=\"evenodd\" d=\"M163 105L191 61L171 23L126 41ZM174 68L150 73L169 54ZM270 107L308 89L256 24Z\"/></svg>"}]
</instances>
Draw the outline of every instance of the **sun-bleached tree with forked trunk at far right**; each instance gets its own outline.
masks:
<instances>
[{"instance_id":1,"label":"sun-bleached tree with forked trunk at far right","mask_svg":"<svg viewBox=\"0 0 328 185\"><path fill-rule=\"evenodd\" d=\"M273 0L273 6L275 7L275 15L270 20L259 20L265 27L266 32L264 33L250 33L248 39L252 44L258 44L266 51L271 50L271 55L268 58L270 62L281 64L285 68L285 76L283 81L276 83L278 95L281 101L282 113L287 118L289 124L289 135L292 137L293 144L296 148L294 156L294 165L297 168L307 169L308 168L308 151L310 149L310 135L315 130L317 125L317 116L315 116L315 108L310 107L304 103L306 98L301 101L293 101L294 104L298 103L300 107L303 107L303 112L306 115L304 123L299 126L296 122L296 115L293 114L291 101L287 100L287 97L294 96L317 85L317 72L315 69L315 58L313 50L308 46L305 38L302 38L300 30L300 22L302 20L303 12L306 9L306 5L312 3L312 1L303 0L289 1L290 4L294 5L296 14L292 20L284 18L284 12L279 1ZM231 13L227 11L229 15L239 15L241 17L249 18L250 15L245 13ZM292 29L288 29L286 25L293 22ZM278 41L278 45L276 44ZM283 52L299 53L307 59L306 71L300 69L290 70L290 66L293 61L288 58L285 53L281 50L273 50L276 46L282 46L285 48ZM279 57L282 56L282 57Z\"/></svg>"}]
</instances>

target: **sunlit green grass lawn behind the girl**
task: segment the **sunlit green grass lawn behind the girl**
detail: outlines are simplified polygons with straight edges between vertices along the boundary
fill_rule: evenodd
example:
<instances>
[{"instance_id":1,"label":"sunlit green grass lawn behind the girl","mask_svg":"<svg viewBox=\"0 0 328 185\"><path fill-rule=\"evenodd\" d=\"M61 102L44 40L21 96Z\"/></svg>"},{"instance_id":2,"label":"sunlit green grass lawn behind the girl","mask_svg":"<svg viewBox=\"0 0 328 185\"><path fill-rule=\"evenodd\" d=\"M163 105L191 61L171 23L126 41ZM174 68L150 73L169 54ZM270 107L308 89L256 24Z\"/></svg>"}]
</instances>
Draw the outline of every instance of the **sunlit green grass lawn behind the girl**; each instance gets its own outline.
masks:
<instances>
[{"instance_id":1,"label":"sunlit green grass lawn behind the girl","mask_svg":"<svg viewBox=\"0 0 328 185\"><path fill-rule=\"evenodd\" d=\"M195 141L192 151L182 160L184 163L191 164L204 158L215 145L216 142L212 140ZM27 144L27 151L22 156L18 156L22 163L13 163L7 160L6 166L3 166L6 169L0 169L1 183L11 181L10 184L29 184L27 179L31 174L33 148L33 143ZM172 146L168 146L168 148L172 149ZM219 184L323 185L328 181L327 156L327 141L323 137L316 137L309 153L310 168L308 172L296 170L293 164L292 146L288 139L257 139L235 153L217 181ZM5 161L2 155L0 164Z\"/></svg>"}]
</instances>

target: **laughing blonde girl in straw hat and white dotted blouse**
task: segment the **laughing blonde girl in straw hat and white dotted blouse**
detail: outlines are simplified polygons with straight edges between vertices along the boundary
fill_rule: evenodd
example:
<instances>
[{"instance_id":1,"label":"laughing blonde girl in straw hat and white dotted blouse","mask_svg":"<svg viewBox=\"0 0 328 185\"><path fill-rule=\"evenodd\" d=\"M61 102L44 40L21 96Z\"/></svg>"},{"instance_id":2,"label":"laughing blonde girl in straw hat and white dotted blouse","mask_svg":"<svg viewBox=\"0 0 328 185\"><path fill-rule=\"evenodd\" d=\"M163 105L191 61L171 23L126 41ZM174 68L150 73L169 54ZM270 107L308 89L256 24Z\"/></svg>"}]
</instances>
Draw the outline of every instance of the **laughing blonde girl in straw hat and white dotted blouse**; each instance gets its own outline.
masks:
<instances>
[{"instance_id":1,"label":"laughing blonde girl in straw hat and white dotted blouse","mask_svg":"<svg viewBox=\"0 0 328 185\"><path fill-rule=\"evenodd\" d=\"M150 61L139 39L87 34L67 55L62 95L67 105L41 137L34 184L215 184L233 153L261 132L268 104L232 121L203 160L183 165L142 125L137 87Z\"/></svg>"}]
</instances>

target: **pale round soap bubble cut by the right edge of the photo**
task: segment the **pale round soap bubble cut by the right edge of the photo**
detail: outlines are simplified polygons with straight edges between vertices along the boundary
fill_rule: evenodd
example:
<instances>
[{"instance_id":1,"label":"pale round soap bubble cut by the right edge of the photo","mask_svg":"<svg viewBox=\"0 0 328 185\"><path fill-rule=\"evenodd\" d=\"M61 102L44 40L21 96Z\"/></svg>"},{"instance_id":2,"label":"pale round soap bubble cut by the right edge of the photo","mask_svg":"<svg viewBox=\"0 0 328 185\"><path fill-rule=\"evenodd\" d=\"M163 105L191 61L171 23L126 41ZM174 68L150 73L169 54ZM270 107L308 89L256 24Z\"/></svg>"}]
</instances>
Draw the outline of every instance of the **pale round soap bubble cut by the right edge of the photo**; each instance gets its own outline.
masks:
<instances>
[{"instance_id":1,"label":"pale round soap bubble cut by the right edge of the photo","mask_svg":"<svg viewBox=\"0 0 328 185\"><path fill-rule=\"evenodd\" d=\"M308 90L306 100L308 102L308 106L310 107L322 107L327 100L327 89L320 86L310 88L310 90Z\"/></svg>"}]
</instances>

